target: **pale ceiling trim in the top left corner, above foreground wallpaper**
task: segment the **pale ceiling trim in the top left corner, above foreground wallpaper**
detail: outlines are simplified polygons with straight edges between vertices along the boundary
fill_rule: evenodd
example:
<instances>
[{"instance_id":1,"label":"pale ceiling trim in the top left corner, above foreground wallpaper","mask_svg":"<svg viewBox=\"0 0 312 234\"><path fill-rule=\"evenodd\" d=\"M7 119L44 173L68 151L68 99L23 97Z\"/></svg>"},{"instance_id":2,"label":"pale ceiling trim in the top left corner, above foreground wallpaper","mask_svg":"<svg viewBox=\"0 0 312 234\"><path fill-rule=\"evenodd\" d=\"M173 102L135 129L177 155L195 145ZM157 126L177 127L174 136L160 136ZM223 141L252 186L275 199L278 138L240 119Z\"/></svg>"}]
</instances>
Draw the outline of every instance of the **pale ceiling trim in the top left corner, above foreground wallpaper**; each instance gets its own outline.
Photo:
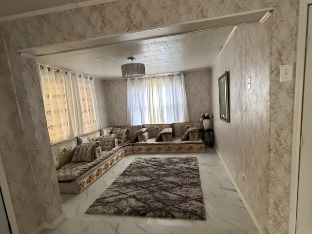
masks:
<instances>
[{"instance_id":1,"label":"pale ceiling trim in the top left corner, above foreground wallpaper","mask_svg":"<svg viewBox=\"0 0 312 234\"><path fill-rule=\"evenodd\" d=\"M68 3L65 5L39 9L35 11L29 11L25 13L10 15L10 16L0 16L0 22L8 21L8 20L17 20L21 18L39 16L39 15L44 15L44 14L50 14L50 13L55 13L59 11L66 11L66 10L81 8L85 6L92 6L92 5L102 4L106 2L112 2L112 1L117 1L117 0L86 0L86 1L81 1L81 2Z\"/></svg>"}]
</instances>

